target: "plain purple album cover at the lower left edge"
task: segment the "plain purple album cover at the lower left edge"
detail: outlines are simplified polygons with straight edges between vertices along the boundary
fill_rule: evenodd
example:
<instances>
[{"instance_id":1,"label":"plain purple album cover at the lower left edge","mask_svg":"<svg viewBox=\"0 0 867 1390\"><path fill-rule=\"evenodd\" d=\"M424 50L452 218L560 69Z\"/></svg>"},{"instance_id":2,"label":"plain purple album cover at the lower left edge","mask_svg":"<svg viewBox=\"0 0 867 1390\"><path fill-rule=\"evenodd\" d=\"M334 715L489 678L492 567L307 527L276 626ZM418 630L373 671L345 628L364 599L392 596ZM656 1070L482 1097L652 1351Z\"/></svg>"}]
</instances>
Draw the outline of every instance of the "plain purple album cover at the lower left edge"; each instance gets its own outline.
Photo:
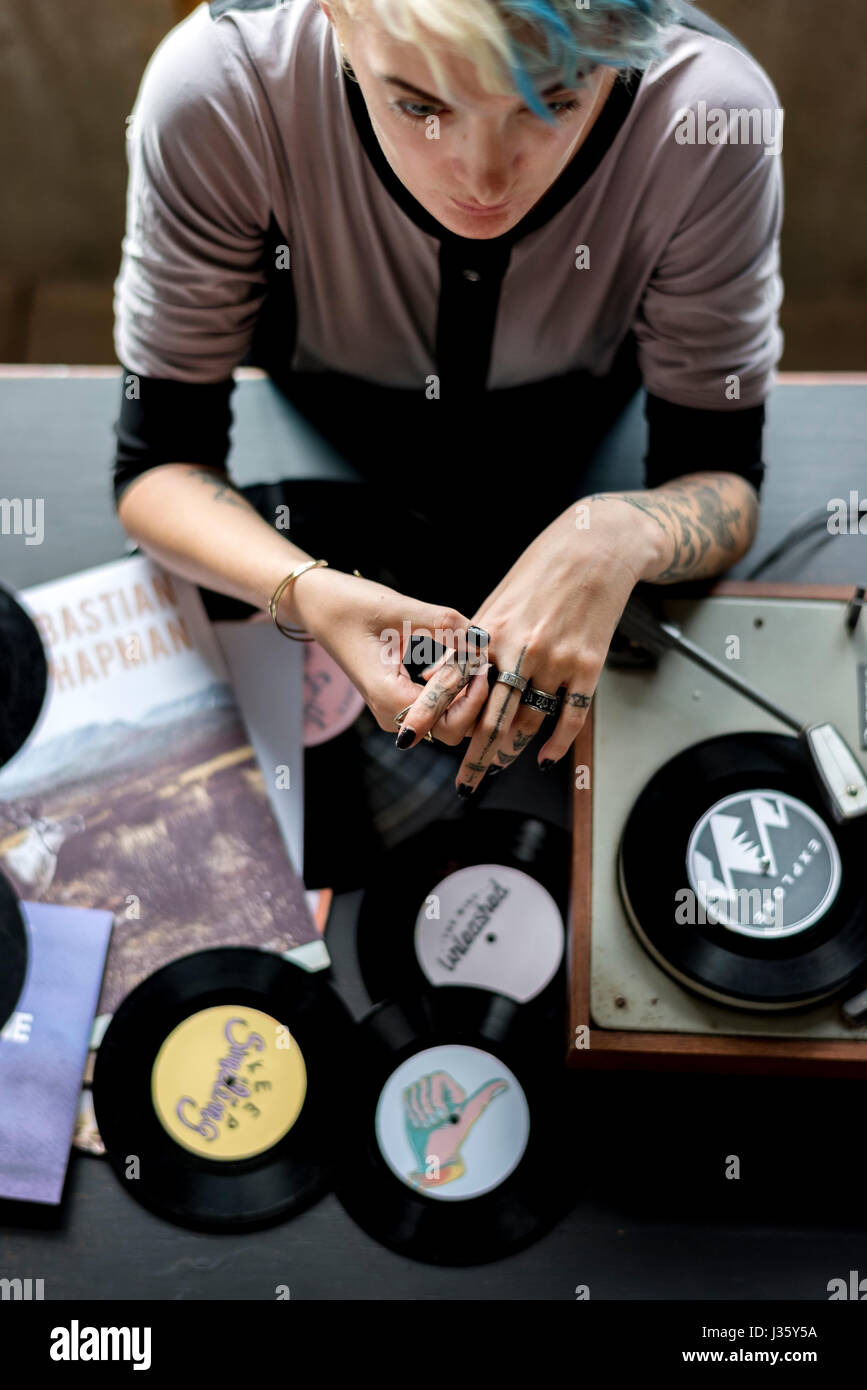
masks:
<instances>
[{"instance_id":1,"label":"plain purple album cover at the lower left edge","mask_svg":"<svg viewBox=\"0 0 867 1390\"><path fill-rule=\"evenodd\" d=\"M29 965L0 1033L0 1197L61 1198L110 912L22 902Z\"/></svg>"}]
</instances>

